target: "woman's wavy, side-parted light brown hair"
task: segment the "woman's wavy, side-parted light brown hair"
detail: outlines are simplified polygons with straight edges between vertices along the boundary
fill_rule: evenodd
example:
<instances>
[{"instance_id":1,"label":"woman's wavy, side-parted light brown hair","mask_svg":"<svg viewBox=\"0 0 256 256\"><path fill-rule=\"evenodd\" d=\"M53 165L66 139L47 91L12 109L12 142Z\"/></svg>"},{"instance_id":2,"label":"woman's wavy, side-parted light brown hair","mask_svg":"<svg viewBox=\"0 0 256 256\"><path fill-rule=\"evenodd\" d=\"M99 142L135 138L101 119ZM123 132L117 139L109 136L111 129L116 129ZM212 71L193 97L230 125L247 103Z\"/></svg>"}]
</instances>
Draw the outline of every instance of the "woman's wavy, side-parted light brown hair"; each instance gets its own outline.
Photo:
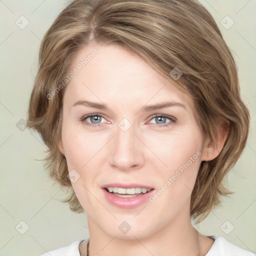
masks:
<instances>
[{"instance_id":1,"label":"woman's wavy, side-parted light brown hair","mask_svg":"<svg viewBox=\"0 0 256 256\"><path fill-rule=\"evenodd\" d=\"M40 45L27 126L47 145L49 176L70 189L64 201L74 212L83 209L57 147L64 88L51 99L47 95L65 78L77 52L91 43L116 44L136 53L186 91L194 99L203 136L213 143L217 120L228 121L221 152L201 162L192 190L190 215L201 221L220 203L220 195L231 193L221 182L240 156L249 128L236 64L214 19L196 0L74 0L57 16ZM182 71L176 81L169 75L175 67Z\"/></svg>"}]
</instances>

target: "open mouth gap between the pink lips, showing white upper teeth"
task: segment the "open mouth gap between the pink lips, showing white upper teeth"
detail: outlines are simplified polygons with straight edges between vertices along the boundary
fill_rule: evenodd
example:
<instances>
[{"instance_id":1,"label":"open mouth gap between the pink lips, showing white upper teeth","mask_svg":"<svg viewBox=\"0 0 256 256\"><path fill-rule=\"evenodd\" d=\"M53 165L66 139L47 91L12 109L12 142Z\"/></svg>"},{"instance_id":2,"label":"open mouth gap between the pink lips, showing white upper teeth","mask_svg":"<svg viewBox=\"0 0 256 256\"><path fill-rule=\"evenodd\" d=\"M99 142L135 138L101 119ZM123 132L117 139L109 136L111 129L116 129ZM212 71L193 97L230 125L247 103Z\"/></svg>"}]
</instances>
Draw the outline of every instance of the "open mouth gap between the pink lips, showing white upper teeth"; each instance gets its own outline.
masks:
<instances>
[{"instance_id":1,"label":"open mouth gap between the pink lips, showing white upper teeth","mask_svg":"<svg viewBox=\"0 0 256 256\"><path fill-rule=\"evenodd\" d=\"M144 188L144 187L131 187L131 188L123 188L123 187L104 187L104 189L113 195L119 197L135 197L141 194L148 193L153 188Z\"/></svg>"}]
</instances>

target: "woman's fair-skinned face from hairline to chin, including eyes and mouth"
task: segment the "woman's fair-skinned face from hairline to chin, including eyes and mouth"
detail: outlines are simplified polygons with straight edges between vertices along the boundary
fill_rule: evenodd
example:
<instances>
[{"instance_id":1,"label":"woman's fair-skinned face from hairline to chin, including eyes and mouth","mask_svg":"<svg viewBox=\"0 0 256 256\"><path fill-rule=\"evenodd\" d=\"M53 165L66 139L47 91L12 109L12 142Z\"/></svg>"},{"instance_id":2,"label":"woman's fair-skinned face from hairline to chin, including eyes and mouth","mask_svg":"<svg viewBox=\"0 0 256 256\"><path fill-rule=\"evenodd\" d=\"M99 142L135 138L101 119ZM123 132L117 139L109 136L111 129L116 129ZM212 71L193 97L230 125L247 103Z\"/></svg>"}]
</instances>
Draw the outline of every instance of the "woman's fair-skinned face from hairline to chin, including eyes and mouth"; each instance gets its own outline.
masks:
<instances>
[{"instance_id":1,"label":"woman's fair-skinned face from hairline to chin, including eyes and mouth","mask_svg":"<svg viewBox=\"0 0 256 256\"><path fill-rule=\"evenodd\" d=\"M139 239L190 219L205 155L192 98L119 46L88 46L71 70L59 149L89 225Z\"/></svg>"}]
</instances>

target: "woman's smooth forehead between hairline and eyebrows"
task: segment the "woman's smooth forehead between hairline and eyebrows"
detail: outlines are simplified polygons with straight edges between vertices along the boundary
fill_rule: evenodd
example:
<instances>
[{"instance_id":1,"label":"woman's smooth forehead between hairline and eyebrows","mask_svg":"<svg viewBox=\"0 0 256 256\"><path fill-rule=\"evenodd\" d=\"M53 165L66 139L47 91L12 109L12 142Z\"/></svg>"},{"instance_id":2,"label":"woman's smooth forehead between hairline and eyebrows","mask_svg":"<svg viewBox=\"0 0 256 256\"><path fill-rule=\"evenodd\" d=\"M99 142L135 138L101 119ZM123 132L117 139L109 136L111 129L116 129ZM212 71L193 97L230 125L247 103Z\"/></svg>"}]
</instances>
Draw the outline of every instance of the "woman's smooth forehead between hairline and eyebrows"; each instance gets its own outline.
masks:
<instances>
[{"instance_id":1,"label":"woman's smooth forehead between hairline and eyebrows","mask_svg":"<svg viewBox=\"0 0 256 256\"><path fill-rule=\"evenodd\" d=\"M64 103L68 105L86 99L129 107L166 100L193 105L192 98L174 86L171 78L167 80L142 58L120 46L84 47L70 70L76 70L76 74L64 93Z\"/></svg>"}]
</instances>

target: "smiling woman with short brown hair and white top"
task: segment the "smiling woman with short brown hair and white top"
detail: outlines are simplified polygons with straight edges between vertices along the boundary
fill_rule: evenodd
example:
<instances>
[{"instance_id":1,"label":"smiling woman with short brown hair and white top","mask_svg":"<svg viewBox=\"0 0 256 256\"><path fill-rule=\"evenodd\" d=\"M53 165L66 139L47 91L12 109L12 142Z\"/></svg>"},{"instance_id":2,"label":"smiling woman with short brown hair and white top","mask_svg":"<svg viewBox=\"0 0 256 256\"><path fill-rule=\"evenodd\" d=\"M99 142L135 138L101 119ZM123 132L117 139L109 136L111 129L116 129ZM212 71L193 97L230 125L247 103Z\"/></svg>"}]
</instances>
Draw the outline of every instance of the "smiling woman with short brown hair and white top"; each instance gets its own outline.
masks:
<instances>
[{"instance_id":1,"label":"smiling woman with short brown hair and white top","mask_svg":"<svg viewBox=\"0 0 256 256\"><path fill-rule=\"evenodd\" d=\"M74 0L39 62L28 126L89 229L50 255L253 255L191 224L229 193L221 180L249 127L234 60L199 2Z\"/></svg>"}]
</instances>

